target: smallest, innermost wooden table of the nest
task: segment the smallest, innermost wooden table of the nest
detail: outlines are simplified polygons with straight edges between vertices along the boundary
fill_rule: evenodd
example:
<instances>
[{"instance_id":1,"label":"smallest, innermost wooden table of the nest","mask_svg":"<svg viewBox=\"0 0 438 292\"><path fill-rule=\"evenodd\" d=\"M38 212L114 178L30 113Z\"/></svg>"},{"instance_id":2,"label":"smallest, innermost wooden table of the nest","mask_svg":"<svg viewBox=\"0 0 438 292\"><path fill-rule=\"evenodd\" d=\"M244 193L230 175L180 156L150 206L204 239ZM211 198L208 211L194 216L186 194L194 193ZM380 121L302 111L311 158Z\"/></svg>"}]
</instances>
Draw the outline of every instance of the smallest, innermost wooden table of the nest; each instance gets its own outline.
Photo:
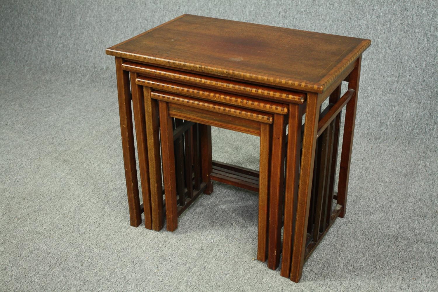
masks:
<instances>
[{"instance_id":1,"label":"smallest, innermost wooden table of the nest","mask_svg":"<svg viewBox=\"0 0 438 292\"><path fill-rule=\"evenodd\" d=\"M155 94L158 92L157 94ZM200 137L200 147L201 147L201 176L203 183L205 183L205 190L204 193L211 193L212 192L212 186L209 188L209 184L211 185L211 174L212 174L212 153L211 153L211 125L213 124L222 124L223 128L227 128L229 126L228 119L221 120L224 115L223 113L228 113L228 109L223 109L223 113L218 113L215 106L215 103L213 102L202 102L193 98L185 98L180 95L173 95L172 97L164 96L160 91L153 91L151 93L151 97L153 99L157 99L159 101L159 108L160 108L160 127L161 127L161 142L162 142L162 157L163 157L163 176L165 178L165 196L166 196L166 217L168 222L167 229L170 231L173 231L177 227L177 209L175 206L177 206L177 193L175 192L175 189L177 189L177 172L175 171L175 165L174 163L174 156L178 155L177 152L175 152L175 155L173 154L173 145L165 145L165 144L173 144L173 130L169 127L171 120L170 118L180 118L180 113L184 113L185 117L184 120L186 121L196 121L199 124L199 137ZM181 102L181 100L184 100L184 102ZM202 106L199 106L199 104L202 104ZM175 110L177 109L177 110ZM240 127L245 128L250 127L250 129L253 127L254 120L251 116L248 116L242 111L238 111L240 113L240 118L237 116L233 116L233 119L239 120ZM254 113L256 116L261 116L262 113ZM271 158L271 151L270 151L270 145L272 144L272 153L279 152L277 156L279 156L279 160L284 161L284 155L282 153L282 150L284 149L283 145L283 137L285 136L284 131L284 115L276 114L274 118L273 128L274 128L274 134L272 134L271 137L271 120L267 119L258 119L258 127L259 130L259 136L260 136L260 169L259 169L259 223L258 223L258 259L259 260L265 260L266 259L266 253L268 249L268 200L269 200L269 168L274 166L274 163L272 163L272 166L270 166L270 158ZM229 118L229 117L228 117ZM277 122L278 120L278 122ZM275 128L278 128L277 130ZM172 139L171 139L172 137ZM272 143L271 139L279 140L276 143ZM278 149L277 149L278 148ZM283 148L283 149L282 149ZM283 165L279 162L281 165L280 167L278 165L275 165L278 169L278 178L276 178L276 182L279 181L281 185L283 185L282 181L282 172L283 172ZM216 163L216 165L218 165ZM219 165L222 166L222 165ZM226 167L226 165L223 165ZM230 167L228 167L230 168ZM220 167L216 167L216 172L218 170L220 171ZM226 168L225 168L226 169ZM223 169L223 170L225 170ZM224 172L227 174L226 172ZM250 172L251 173L251 172ZM229 175L229 172L228 172ZM224 175L225 176L225 175ZM243 176L241 176L243 177ZM230 180L230 176L228 177ZM272 194L272 188L270 193ZM279 192L280 194L281 192ZM277 196L279 196L279 194ZM281 197L281 196L279 196ZM181 199L181 197L180 197ZM280 201L280 199L277 199ZM281 202L281 201L280 201ZM170 207L170 205L172 207ZM272 204L271 204L272 205ZM280 203L281 205L281 203ZM180 202L180 206L184 206ZM269 223L270 225L271 223ZM279 226L281 229L281 225ZM278 234L278 238L279 238ZM269 239L269 244L270 243ZM279 244L279 243L278 243ZM269 252L271 247L269 247ZM276 252L275 250L273 251ZM270 255L270 253L268 253Z\"/></svg>"}]
</instances>

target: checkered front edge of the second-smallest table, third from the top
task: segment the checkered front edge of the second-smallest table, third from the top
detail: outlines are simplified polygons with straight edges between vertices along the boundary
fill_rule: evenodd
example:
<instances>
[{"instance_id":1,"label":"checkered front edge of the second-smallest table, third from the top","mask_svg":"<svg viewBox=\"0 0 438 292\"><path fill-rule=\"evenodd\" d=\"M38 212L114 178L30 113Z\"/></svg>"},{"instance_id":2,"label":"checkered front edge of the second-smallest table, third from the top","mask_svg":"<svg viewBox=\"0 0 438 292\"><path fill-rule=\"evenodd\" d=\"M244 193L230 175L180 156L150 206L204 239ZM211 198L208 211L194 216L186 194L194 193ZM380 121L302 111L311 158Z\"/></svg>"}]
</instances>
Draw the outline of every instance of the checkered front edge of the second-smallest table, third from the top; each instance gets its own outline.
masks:
<instances>
[{"instance_id":1,"label":"checkered front edge of the second-smallest table, third from the top","mask_svg":"<svg viewBox=\"0 0 438 292\"><path fill-rule=\"evenodd\" d=\"M221 102L225 104L232 104L248 109L261 110L262 112L279 114L287 113L287 106L281 103L264 101L261 99L253 99L250 97L235 95L222 91L214 91L190 85L149 78L145 76L138 77L136 83L163 91L174 92L181 95L193 96L196 98L207 99L210 101Z\"/></svg>"}]
</instances>

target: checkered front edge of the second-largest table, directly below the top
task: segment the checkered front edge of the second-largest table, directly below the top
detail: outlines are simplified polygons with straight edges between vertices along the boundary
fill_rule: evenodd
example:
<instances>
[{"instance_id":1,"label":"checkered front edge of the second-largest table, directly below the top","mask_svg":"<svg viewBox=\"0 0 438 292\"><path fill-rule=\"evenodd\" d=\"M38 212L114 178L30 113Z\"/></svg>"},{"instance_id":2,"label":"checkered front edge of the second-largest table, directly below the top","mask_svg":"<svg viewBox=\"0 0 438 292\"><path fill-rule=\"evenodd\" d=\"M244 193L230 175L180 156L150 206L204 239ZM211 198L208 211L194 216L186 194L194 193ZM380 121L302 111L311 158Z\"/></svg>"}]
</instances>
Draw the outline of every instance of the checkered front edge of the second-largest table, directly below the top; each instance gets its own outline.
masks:
<instances>
[{"instance_id":1,"label":"checkered front edge of the second-largest table, directly below the top","mask_svg":"<svg viewBox=\"0 0 438 292\"><path fill-rule=\"evenodd\" d=\"M125 62L122 65L124 70L137 72L143 75L159 77L167 80L177 81L184 84L194 84L200 87L214 88L221 91L231 91L241 95L257 96L266 99L304 103L306 95L300 92L287 91L278 88L243 83L217 77L193 74L167 68L154 67L146 64Z\"/></svg>"}]
</instances>

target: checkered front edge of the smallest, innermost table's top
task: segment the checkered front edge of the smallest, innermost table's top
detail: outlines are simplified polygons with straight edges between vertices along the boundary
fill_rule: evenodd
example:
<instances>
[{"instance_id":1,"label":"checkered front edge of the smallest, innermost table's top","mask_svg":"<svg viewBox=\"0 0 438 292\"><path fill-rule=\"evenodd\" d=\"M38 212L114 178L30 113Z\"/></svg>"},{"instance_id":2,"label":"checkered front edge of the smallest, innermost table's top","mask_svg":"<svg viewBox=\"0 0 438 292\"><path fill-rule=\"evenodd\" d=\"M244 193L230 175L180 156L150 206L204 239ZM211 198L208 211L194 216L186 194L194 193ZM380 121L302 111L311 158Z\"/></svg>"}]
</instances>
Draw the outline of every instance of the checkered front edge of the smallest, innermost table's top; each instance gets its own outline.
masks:
<instances>
[{"instance_id":1,"label":"checkered front edge of the smallest, innermost table's top","mask_svg":"<svg viewBox=\"0 0 438 292\"><path fill-rule=\"evenodd\" d=\"M184 106L191 106L198 109L206 109L216 113L223 113L230 116L237 116L247 120L254 120L261 123L272 123L272 114L256 112L254 110L242 109L236 106L226 106L217 102L206 102L200 99L193 99L186 96L175 95L164 91L152 91L153 99L172 102Z\"/></svg>"}]
</instances>

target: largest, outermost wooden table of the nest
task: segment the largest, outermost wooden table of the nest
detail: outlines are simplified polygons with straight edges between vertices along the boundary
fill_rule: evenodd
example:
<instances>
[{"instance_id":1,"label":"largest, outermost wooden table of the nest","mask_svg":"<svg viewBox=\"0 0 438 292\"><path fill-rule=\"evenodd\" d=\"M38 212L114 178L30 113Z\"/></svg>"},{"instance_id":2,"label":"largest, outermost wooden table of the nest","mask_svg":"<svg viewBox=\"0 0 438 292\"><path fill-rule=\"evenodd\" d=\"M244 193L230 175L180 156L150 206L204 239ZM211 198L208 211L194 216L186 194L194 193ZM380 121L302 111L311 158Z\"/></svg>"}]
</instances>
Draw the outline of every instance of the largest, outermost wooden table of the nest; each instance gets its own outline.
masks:
<instances>
[{"instance_id":1,"label":"largest, outermost wooden table of the nest","mask_svg":"<svg viewBox=\"0 0 438 292\"><path fill-rule=\"evenodd\" d=\"M297 143L301 143L298 134L301 120L297 101L281 95L273 98L277 102L290 104L291 109L286 136L285 235L281 274L293 281L299 281L304 260L318 245L331 223L337 217L345 216L361 58L370 44L368 39L184 14L106 49L107 54L116 57L120 126L131 225L140 225L142 207L138 200L129 73L122 68L124 62L149 64L302 92L305 97L300 103L304 104L305 123L301 158L299 152L297 155ZM348 81L349 91L341 98L341 83L344 80ZM329 97L332 105L329 114L320 117L321 105ZM344 105L346 112L338 205L329 214L330 224L322 232L322 236L317 236L318 240L309 244L307 222L317 138L330 123L335 123L332 141L336 143L337 149L339 111ZM145 118L140 115L138 119L141 121ZM139 149L139 156L141 155L144 157L147 153L141 153ZM297 159L300 159L300 169L297 169L295 163ZM336 154L332 160L336 164ZM298 175L297 188L294 182ZM278 181L279 185L282 184L283 178L279 177ZM144 202L143 208L145 216L153 217L150 204L151 202ZM281 212L278 211L278 216L281 217ZM162 218L151 218L151 221L152 225L146 227L155 230L162 228ZM281 229L281 225L275 229L278 228ZM279 245L279 239L277 241L275 244ZM268 261L271 268L278 265L279 253Z\"/></svg>"}]
</instances>

